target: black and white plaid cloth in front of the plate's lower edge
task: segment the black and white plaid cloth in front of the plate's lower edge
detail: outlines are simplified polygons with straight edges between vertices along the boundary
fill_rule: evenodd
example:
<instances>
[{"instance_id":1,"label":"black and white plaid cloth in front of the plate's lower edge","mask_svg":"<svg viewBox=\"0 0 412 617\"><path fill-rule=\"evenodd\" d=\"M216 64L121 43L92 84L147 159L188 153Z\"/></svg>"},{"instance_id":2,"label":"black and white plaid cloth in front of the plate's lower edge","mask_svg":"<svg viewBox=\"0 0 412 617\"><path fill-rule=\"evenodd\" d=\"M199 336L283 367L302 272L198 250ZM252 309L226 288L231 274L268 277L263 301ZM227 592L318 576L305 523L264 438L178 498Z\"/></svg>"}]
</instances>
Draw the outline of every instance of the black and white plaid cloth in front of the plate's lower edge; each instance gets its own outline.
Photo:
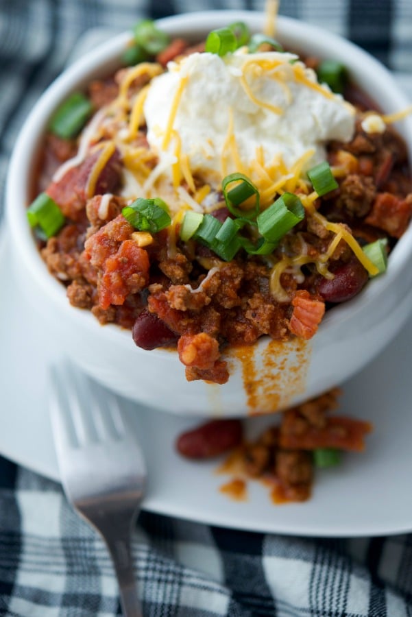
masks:
<instances>
[{"instance_id":1,"label":"black and white plaid cloth in front of the plate's lower edge","mask_svg":"<svg viewBox=\"0 0 412 617\"><path fill-rule=\"evenodd\" d=\"M134 557L147 617L412 614L412 535L313 540L143 512ZM0 614L121 615L106 548L60 485L1 457Z\"/></svg>"}]
</instances>

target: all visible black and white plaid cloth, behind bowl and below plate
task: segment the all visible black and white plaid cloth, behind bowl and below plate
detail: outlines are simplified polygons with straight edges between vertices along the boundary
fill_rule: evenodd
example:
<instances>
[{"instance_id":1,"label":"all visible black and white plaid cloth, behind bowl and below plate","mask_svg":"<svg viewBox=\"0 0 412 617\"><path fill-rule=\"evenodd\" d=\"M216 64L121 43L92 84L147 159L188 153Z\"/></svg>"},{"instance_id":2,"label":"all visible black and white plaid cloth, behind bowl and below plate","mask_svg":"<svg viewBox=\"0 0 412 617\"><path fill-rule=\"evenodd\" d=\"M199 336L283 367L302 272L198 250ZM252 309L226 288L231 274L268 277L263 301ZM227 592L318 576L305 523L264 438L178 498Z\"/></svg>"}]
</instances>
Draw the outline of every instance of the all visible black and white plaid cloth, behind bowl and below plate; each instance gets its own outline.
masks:
<instances>
[{"instance_id":1,"label":"all visible black and white plaid cloth, behind bowl and below plate","mask_svg":"<svg viewBox=\"0 0 412 617\"><path fill-rule=\"evenodd\" d=\"M0 0L0 191L19 128L85 32L210 8L264 0ZM352 38L412 96L412 1L284 0L280 12ZM315 540L142 513L134 555L147 616L412 616L412 535ZM0 614L121 614L106 548L60 486L1 457Z\"/></svg>"}]
</instances>

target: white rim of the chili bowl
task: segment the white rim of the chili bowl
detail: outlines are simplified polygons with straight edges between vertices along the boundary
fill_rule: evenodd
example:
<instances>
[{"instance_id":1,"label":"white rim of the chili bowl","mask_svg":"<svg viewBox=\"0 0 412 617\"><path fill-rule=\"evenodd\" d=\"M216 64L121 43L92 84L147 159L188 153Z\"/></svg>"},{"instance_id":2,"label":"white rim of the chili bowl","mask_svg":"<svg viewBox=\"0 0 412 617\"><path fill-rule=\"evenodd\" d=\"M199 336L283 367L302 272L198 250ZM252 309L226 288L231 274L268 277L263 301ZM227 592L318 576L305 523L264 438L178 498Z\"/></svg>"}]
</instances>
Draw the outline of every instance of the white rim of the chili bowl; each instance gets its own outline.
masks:
<instances>
[{"instance_id":1,"label":"white rim of the chili bowl","mask_svg":"<svg viewBox=\"0 0 412 617\"><path fill-rule=\"evenodd\" d=\"M171 36L182 34L182 31L190 32L191 38L204 36L210 29L221 27L230 21L246 21L250 28L258 30L263 26L265 14L256 11L236 11L236 10L213 10L184 13L158 20L158 27L164 28ZM317 25L308 24L286 16L278 16L277 29L280 40L289 45L293 41L299 45L302 41L301 49L310 48L310 51L322 56L322 51L328 53L328 57L343 59L343 56L351 58L347 62L350 73L358 75L372 75L371 82L383 82L386 85L387 93L385 112L393 112L406 108L409 101L402 92L388 69L380 64L378 60L369 56L369 53L354 45L349 40L341 36L328 32ZM308 38L311 43L308 44ZM6 185L6 219L11 230L14 243L19 250L25 266L36 276L40 288L45 291L47 297L53 298L60 309L64 312L69 311L69 317L75 319L77 323L86 326L93 332L99 331L99 336L103 335L110 341L123 341L130 345L130 330L121 328L116 324L106 324L103 330L97 330L96 325L100 325L95 316L90 311L76 309L67 301L64 287L47 270L43 259L38 252L36 243L29 229L25 217L25 208L28 205L28 187L30 179L30 163L39 147L44 136L47 121L56 106L80 84L86 84L93 75L102 73L102 67L108 69L110 63L119 66L119 57L125 45L132 39L131 32L123 32L101 43L92 51L89 51L81 58L75 60L71 66L66 68L54 80L45 92L40 96L32 111L23 123L19 136L14 145L8 178ZM299 49L299 48L298 48ZM324 54L323 54L324 55ZM356 77L355 77L356 78ZM388 87L390 86L390 88ZM387 90L386 90L387 88ZM367 88L365 88L367 90ZM382 90L384 93L384 90ZM386 96L386 95L385 95ZM404 138L409 149L410 164L412 160L412 118L407 117L401 123L404 128ZM23 169L23 182L22 178ZM14 204L18 207L13 207ZM22 206L22 207L21 207ZM387 272L369 284L352 300L334 306L331 311L327 311L319 332L327 335L328 331L335 327L337 323L342 324L348 319L356 316L359 311L364 311L366 307L372 306L380 295L385 293L391 282L402 276L402 270L407 265L408 256L412 255L412 224L402 235L389 256L389 267ZM405 290L404 293L406 293ZM92 325L93 324L93 325ZM104 332L104 334L102 334ZM319 336L319 332L317 336ZM262 337L266 339L267 337ZM256 341L259 345L260 339ZM139 348L137 348L139 349ZM145 351L145 350L140 350ZM158 354L170 355L167 350L155 350Z\"/></svg>"}]
</instances>

